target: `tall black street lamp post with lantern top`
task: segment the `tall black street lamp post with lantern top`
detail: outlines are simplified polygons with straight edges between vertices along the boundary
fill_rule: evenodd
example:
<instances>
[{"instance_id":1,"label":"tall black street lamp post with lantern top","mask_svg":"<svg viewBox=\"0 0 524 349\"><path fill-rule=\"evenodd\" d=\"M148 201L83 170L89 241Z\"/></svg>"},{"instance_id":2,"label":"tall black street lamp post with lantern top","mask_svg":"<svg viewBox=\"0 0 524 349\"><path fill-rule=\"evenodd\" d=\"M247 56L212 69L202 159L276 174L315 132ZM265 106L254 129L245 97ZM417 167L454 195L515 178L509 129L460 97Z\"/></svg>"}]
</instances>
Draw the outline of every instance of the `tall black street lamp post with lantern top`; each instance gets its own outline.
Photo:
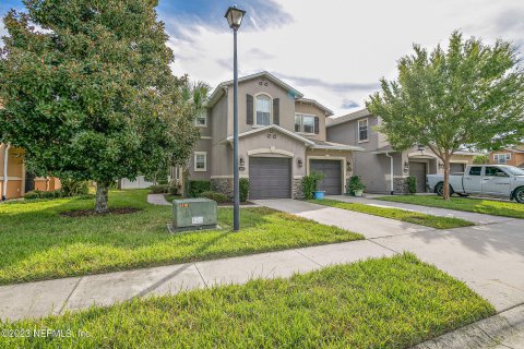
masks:
<instances>
[{"instance_id":1,"label":"tall black street lamp post with lantern top","mask_svg":"<svg viewBox=\"0 0 524 349\"><path fill-rule=\"evenodd\" d=\"M234 49L233 49L233 230L240 229L240 180L238 173L238 63L237 63L237 32L242 24L246 11L237 7L227 9L224 15L227 19L229 27L233 29Z\"/></svg>"}]
</instances>

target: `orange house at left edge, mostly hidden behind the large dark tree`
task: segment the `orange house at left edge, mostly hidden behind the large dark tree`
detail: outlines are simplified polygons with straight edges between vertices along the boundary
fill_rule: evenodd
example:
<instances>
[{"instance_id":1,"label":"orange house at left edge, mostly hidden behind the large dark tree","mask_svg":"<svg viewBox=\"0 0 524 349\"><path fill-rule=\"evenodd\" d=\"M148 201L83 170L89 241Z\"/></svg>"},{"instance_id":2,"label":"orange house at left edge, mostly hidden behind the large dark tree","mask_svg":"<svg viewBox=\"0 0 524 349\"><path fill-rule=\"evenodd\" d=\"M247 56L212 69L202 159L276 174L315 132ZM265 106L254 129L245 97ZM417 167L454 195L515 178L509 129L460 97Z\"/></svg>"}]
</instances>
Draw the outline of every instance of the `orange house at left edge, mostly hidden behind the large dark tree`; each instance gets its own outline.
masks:
<instances>
[{"instance_id":1,"label":"orange house at left edge, mostly hidden behind the large dark tree","mask_svg":"<svg viewBox=\"0 0 524 349\"><path fill-rule=\"evenodd\" d=\"M55 177L35 177L25 170L24 152L0 143L0 192L1 198L24 196L32 190L50 191L60 189Z\"/></svg>"}]
</instances>

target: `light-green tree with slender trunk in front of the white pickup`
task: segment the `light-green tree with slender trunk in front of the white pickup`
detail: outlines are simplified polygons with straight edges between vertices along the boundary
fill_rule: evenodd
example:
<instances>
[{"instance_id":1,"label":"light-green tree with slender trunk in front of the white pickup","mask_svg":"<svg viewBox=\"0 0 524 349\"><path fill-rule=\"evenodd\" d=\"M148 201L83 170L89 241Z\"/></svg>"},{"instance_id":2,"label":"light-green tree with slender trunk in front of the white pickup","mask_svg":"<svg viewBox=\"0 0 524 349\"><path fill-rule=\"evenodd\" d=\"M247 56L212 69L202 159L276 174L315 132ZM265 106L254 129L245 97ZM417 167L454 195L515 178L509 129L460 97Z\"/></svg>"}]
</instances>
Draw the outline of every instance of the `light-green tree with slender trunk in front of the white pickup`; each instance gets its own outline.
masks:
<instances>
[{"instance_id":1,"label":"light-green tree with slender trunk in front of the white pickup","mask_svg":"<svg viewBox=\"0 0 524 349\"><path fill-rule=\"evenodd\" d=\"M450 197L450 160L463 148L513 144L524 129L524 74L517 49L498 40L450 37L448 49L415 45L398 61L398 77L381 80L368 110L392 146L429 147L444 164L443 197Z\"/></svg>"}]
</instances>

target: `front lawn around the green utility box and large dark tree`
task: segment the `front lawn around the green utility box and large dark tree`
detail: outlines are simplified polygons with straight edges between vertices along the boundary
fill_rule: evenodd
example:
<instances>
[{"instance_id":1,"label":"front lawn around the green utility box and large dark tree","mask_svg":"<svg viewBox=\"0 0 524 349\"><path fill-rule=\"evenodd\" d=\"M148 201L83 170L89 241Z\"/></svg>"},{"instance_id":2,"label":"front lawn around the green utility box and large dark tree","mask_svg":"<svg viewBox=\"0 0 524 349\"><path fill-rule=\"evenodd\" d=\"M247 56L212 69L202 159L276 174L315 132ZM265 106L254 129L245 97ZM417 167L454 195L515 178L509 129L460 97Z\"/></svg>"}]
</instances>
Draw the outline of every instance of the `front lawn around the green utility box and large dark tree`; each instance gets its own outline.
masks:
<instances>
[{"instance_id":1,"label":"front lawn around the green utility box and large dark tree","mask_svg":"<svg viewBox=\"0 0 524 349\"><path fill-rule=\"evenodd\" d=\"M223 230L169 234L170 206L146 203L147 191L111 191L109 206L138 207L129 215L64 217L94 207L94 200L0 205L0 285L131 269L198 260L362 239L360 234L269 208L218 208Z\"/></svg>"}]
</instances>

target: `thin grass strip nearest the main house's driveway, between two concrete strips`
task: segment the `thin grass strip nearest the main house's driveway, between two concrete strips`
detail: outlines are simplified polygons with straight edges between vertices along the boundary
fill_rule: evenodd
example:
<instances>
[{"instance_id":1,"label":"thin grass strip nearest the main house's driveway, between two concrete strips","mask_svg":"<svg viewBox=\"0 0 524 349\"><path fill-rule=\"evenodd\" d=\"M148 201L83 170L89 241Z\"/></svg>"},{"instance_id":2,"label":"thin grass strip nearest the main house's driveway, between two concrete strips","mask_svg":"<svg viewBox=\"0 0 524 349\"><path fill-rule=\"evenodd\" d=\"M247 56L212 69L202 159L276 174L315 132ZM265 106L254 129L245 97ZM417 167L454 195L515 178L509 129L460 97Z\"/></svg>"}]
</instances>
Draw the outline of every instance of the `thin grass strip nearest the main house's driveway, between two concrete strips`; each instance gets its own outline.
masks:
<instances>
[{"instance_id":1,"label":"thin grass strip nearest the main house's driveway, between two concrete strips","mask_svg":"<svg viewBox=\"0 0 524 349\"><path fill-rule=\"evenodd\" d=\"M355 210L362 214L392 218L396 220L413 222L416 225L432 227L437 229L451 229L451 228L458 228L458 227L468 227L474 225L468 220L464 220L460 218L438 217L438 216L431 216L431 215L421 214L418 212L410 212L410 210L405 210L400 208L378 207L378 206L371 206L371 205L359 204L359 203L344 203L344 202L330 200L330 198L312 200L311 202L314 204L344 208L348 210Z\"/></svg>"}]
</instances>

